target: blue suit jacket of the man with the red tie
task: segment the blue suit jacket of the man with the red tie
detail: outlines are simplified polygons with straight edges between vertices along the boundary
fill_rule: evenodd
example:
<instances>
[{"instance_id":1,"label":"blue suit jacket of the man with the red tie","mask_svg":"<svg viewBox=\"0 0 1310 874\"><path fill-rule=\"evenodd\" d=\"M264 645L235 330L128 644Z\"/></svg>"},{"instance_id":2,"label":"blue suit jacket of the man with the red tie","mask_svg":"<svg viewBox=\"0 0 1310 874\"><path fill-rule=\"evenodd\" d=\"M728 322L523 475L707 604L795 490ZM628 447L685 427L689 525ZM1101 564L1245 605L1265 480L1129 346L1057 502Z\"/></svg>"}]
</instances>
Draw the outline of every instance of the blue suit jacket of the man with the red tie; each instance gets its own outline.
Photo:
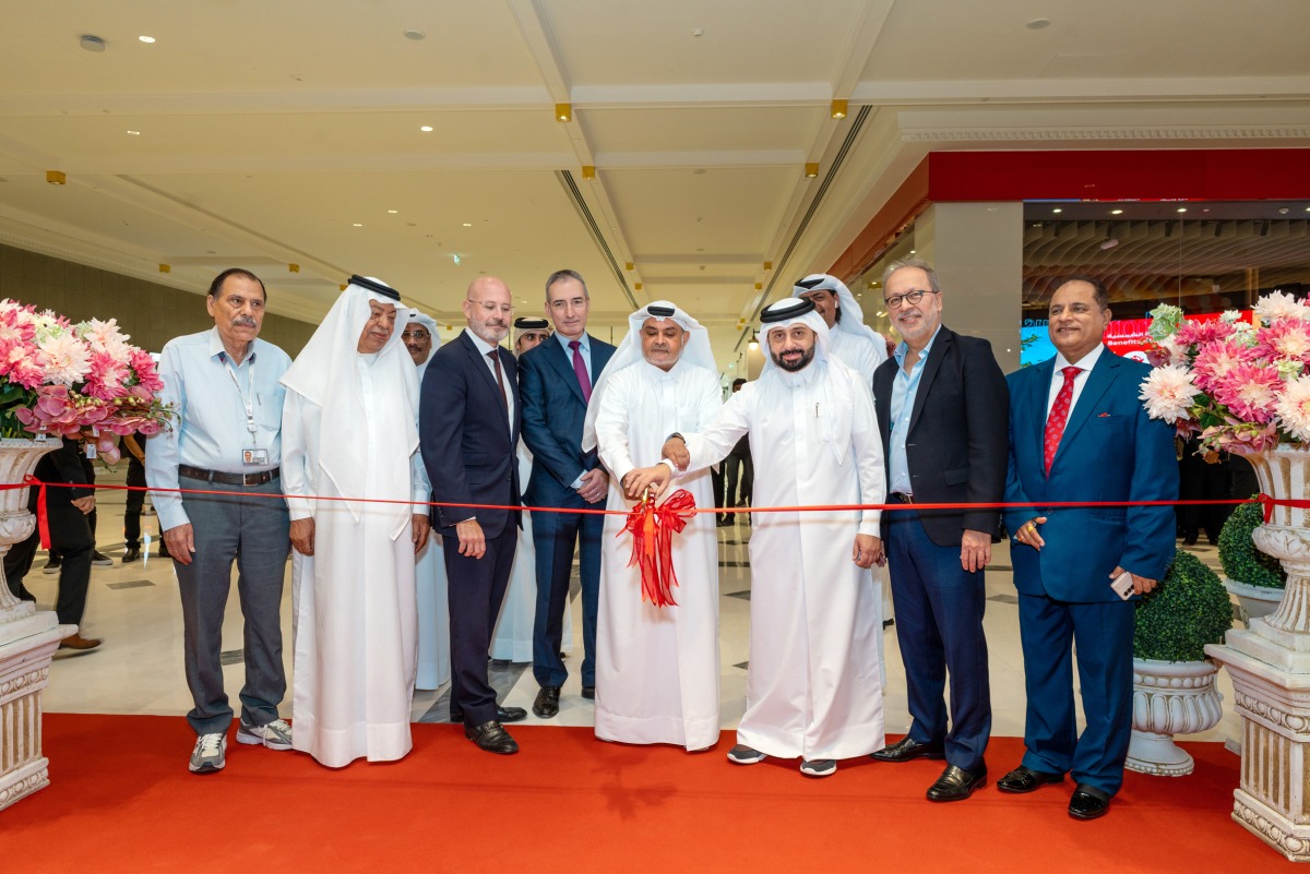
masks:
<instances>
[{"instance_id":1,"label":"blue suit jacket of the man with the red tie","mask_svg":"<svg viewBox=\"0 0 1310 874\"><path fill-rule=\"evenodd\" d=\"M1010 467L1006 527L1045 516L1041 551L1011 543L1014 585L1026 595L1074 603L1114 602L1116 565L1162 580L1174 559L1174 508L1043 509L1043 501L1176 501L1174 429L1150 419L1138 391L1150 368L1108 348L1069 412L1049 479L1043 432L1055 358L1006 377L1010 385Z\"/></svg>"}]
</instances>

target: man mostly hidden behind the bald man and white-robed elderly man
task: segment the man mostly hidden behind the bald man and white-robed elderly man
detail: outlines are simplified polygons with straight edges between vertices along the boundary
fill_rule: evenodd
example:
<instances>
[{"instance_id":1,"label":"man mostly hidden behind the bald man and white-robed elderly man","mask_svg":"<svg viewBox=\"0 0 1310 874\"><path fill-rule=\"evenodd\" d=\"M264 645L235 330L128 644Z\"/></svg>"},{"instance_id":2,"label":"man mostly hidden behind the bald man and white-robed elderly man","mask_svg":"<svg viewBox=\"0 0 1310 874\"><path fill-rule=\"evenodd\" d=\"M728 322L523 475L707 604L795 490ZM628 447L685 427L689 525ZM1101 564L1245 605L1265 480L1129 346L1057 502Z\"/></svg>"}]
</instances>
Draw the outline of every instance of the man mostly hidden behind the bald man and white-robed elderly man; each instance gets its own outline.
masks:
<instances>
[{"instance_id":1,"label":"man mostly hidden behind the bald man and white-robed elderly man","mask_svg":"<svg viewBox=\"0 0 1310 874\"><path fill-rule=\"evenodd\" d=\"M401 340L418 368L418 383L441 345L436 319L418 310L406 310ZM414 563L414 595L418 607L418 674L414 688L436 690L451 679L451 606L447 602L445 559L441 538L432 535Z\"/></svg>"}]
</instances>

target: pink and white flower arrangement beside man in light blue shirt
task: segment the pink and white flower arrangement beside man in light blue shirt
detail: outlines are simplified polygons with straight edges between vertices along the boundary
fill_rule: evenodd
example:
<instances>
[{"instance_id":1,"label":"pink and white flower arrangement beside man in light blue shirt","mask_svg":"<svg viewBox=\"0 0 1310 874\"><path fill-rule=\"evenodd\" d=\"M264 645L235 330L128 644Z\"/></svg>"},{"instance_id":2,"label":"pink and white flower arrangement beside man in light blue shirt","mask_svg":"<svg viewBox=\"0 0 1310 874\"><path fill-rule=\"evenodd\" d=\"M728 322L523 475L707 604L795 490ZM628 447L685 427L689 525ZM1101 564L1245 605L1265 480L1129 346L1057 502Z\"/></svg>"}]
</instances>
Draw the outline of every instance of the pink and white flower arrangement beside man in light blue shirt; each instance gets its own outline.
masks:
<instances>
[{"instance_id":1,"label":"pink and white flower arrangement beside man in light blue shirt","mask_svg":"<svg viewBox=\"0 0 1310 874\"><path fill-rule=\"evenodd\" d=\"M0 301L0 437L72 436L90 429L105 459L115 436L153 434L174 412L149 353L114 319L79 324L35 306Z\"/></svg>"}]
</instances>

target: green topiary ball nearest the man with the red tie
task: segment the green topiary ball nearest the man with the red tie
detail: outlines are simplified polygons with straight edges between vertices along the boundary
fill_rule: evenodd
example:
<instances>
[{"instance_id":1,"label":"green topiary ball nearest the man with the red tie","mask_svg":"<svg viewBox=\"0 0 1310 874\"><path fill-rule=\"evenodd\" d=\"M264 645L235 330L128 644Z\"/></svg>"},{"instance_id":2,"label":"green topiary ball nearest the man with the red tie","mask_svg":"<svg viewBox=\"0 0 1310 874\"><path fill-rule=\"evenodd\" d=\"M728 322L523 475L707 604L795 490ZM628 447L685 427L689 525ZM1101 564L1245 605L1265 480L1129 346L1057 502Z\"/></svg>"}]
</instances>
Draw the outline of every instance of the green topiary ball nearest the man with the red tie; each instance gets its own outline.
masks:
<instances>
[{"instance_id":1,"label":"green topiary ball nearest the man with the red tie","mask_svg":"<svg viewBox=\"0 0 1310 874\"><path fill-rule=\"evenodd\" d=\"M1233 604L1213 570L1179 550L1163 582L1137 604L1133 658L1199 662L1207 644L1222 644Z\"/></svg>"}]
</instances>

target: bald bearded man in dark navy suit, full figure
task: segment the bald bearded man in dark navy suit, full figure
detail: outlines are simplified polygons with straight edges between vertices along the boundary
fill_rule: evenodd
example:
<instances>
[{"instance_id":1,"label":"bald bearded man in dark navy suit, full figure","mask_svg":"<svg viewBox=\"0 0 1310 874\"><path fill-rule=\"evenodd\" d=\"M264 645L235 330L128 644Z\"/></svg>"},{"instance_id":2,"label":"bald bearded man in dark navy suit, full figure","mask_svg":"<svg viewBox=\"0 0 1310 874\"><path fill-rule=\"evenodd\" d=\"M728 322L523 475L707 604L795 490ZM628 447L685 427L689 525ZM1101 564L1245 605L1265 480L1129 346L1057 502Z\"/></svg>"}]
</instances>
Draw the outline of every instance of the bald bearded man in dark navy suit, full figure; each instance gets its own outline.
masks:
<instances>
[{"instance_id":1,"label":"bald bearded man in dark navy suit, full figure","mask_svg":"<svg viewBox=\"0 0 1310 874\"><path fill-rule=\"evenodd\" d=\"M432 353L419 400L419 446L438 504L519 505L519 382L510 332L510 289L494 276L469 285L468 327ZM519 751L503 722L528 717L499 707L487 649L514 567L519 510L438 506L451 602L451 718L487 752ZM457 548L456 548L457 547Z\"/></svg>"}]
</instances>

